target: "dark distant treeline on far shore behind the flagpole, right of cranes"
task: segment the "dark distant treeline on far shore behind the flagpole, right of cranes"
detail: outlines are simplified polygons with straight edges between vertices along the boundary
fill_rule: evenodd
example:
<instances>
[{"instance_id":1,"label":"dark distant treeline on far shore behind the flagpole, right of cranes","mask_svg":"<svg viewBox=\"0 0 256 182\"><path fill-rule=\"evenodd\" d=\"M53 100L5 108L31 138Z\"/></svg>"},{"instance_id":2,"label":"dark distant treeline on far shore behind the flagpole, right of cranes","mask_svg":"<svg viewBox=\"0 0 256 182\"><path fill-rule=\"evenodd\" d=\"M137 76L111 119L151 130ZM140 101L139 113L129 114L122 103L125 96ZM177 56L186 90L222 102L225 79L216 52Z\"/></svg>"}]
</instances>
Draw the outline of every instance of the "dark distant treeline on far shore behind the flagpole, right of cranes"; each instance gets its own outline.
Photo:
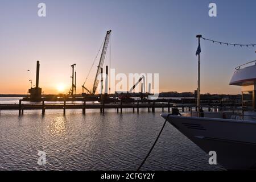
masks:
<instances>
[{"instance_id":1,"label":"dark distant treeline on far shore behind the flagpole, right of cranes","mask_svg":"<svg viewBox=\"0 0 256 182\"><path fill-rule=\"evenodd\" d=\"M193 93L193 92L162 92L159 93L159 97L181 97L181 98L185 98L185 97L193 97L196 98L197 97L197 93ZM237 95L230 95L230 94L210 94L210 93L206 93L206 94L201 94L201 99L222 99L222 98L229 98L229 99L241 99L241 94L237 94Z\"/></svg>"}]
</instances>

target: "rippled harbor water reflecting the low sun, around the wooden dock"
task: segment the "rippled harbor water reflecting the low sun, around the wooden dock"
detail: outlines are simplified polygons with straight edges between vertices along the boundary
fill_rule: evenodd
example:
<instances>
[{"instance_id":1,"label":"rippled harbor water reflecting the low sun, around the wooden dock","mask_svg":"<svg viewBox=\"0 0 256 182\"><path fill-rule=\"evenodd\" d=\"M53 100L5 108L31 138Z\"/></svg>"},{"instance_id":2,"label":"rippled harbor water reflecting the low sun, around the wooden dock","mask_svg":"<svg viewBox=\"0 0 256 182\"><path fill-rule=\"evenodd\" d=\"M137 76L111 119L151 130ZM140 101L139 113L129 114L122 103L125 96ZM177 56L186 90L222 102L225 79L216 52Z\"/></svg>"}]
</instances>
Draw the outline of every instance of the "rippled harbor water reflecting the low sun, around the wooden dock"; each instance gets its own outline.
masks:
<instances>
[{"instance_id":1,"label":"rippled harbor water reflecting the low sun, around the wooden dock","mask_svg":"<svg viewBox=\"0 0 256 182\"><path fill-rule=\"evenodd\" d=\"M0 104L19 98L0 97ZM136 170L156 139L162 109L1 111L0 170ZM46 164L38 164L38 152ZM142 170L224 170L167 123Z\"/></svg>"}]
</instances>

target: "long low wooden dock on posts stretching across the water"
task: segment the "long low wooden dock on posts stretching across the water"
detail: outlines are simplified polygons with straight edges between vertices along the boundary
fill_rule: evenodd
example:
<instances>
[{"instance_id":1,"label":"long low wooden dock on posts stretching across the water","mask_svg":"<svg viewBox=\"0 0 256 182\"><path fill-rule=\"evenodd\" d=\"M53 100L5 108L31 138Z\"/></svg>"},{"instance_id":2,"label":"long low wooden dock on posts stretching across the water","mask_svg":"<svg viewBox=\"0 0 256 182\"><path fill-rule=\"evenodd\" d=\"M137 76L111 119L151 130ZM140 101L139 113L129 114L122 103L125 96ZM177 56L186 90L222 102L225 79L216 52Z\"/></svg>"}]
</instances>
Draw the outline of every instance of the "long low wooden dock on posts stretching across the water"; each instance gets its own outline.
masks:
<instances>
[{"instance_id":1,"label":"long low wooden dock on posts stretching across the water","mask_svg":"<svg viewBox=\"0 0 256 182\"><path fill-rule=\"evenodd\" d=\"M208 109L208 111L216 111L220 107L225 107L229 109L236 109L238 104L202 104L201 108ZM0 104L0 113L1 110L17 110L19 111L19 115L24 114L24 110L42 110L42 114L46 113L46 110L49 109L63 109L63 113L65 114L65 111L67 109L81 109L82 113L86 113L86 109L98 109L101 113L105 112L105 109L116 109L117 113L122 113L123 109L133 109L133 112L135 110L137 113L139 113L139 109L147 108L148 112L152 111L152 113L155 112L156 108L162 109L162 111L166 111L170 113L171 109L173 107L177 107L182 112L191 112L197 111L197 106L195 104L173 104L170 102L140 102L139 100L133 103L113 103L113 104L92 104L92 103L86 103L84 101L81 104L75 104L75 103L67 103L64 101L62 104L46 104L44 101L38 103L38 104L22 104L22 101L19 101L19 104Z\"/></svg>"}]
</instances>

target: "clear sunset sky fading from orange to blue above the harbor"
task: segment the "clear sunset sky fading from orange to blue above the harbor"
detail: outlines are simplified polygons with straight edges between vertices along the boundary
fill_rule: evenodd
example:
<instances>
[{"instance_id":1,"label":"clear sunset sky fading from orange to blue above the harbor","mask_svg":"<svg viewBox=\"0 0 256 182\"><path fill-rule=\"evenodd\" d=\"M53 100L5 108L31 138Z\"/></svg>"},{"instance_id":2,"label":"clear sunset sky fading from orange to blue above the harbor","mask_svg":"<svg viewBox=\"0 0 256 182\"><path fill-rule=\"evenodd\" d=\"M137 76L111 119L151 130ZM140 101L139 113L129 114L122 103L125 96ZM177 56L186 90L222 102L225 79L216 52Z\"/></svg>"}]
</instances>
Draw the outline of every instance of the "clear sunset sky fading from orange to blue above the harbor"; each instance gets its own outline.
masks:
<instances>
[{"instance_id":1,"label":"clear sunset sky fading from orange to blue above the harbor","mask_svg":"<svg viewBox=\"0 0 256 182\"><path fill-rule=\"evenodd\" d=\"M42 2L46 17L38 16ZM211 2L216 17L208 15ZM44 93L58 93L61 85L68 92L74 63L80 93L107 30L111 59L108 51L104 65L116 73L159 73L160 92L193 92L196 35L256 43L255 6L254 0L0 0L0 93L26 94L29 80L35 84L36 60ZM201 93L240 93L230 78L238 65L255 60L255 49L201 40ZM94 65L86 87L92 88L95 74Z\"/></svg>"}]
</instances>

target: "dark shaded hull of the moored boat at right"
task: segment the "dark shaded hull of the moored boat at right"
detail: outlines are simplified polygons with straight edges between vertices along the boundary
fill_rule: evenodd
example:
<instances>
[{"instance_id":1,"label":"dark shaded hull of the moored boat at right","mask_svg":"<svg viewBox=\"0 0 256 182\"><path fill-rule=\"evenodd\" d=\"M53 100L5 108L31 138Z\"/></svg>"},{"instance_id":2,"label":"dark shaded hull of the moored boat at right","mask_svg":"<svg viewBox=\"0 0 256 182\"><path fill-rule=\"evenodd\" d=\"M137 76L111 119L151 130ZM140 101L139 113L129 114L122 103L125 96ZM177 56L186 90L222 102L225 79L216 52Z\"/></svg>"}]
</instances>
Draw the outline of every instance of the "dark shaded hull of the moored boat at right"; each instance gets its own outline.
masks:
<instances>
[{"instance_id":1,"label":"dark shaded hull of the moored boat at right","mask_svg":"<svg viewBox=\"0 0 256 182\"><path fill-rule=\"evenodd\" d=\"M256 169L255 122L167 115L162 117L207 154L216 151L226 169Z\"/></svg>"}]
</instances>

